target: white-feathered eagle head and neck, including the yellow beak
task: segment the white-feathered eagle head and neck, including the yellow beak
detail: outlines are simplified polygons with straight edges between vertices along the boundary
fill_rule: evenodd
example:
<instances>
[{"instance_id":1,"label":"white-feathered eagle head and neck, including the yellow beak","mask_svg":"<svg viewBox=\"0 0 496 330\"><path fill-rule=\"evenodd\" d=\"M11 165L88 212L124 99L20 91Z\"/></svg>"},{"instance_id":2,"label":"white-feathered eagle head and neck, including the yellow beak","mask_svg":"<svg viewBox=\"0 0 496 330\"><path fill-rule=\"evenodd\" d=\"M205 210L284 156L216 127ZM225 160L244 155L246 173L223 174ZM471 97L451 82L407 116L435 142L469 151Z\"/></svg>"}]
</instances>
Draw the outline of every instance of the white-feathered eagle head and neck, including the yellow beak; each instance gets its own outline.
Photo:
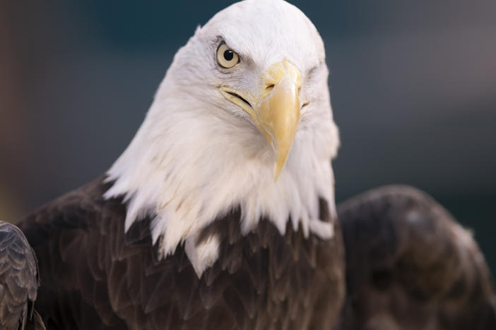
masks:
<instances>
[{"instance_id":1,"label":"white-feathered eagle head and neck, including the yellow beak","mask_svg":"<svg viewBox=\"0 0 496 330\"><path fill-rule=\"evenodd\" d=\"M153 218L165 257L185 243L197 274L215 262L199 231L239 207L242 233L262 217L283 234L332 235L333 122L324 43L282 0L245 0L215 14L177 51L145 121L117 159L105 197L124 196L126 229Z\"/></svg>"}]
</instances>

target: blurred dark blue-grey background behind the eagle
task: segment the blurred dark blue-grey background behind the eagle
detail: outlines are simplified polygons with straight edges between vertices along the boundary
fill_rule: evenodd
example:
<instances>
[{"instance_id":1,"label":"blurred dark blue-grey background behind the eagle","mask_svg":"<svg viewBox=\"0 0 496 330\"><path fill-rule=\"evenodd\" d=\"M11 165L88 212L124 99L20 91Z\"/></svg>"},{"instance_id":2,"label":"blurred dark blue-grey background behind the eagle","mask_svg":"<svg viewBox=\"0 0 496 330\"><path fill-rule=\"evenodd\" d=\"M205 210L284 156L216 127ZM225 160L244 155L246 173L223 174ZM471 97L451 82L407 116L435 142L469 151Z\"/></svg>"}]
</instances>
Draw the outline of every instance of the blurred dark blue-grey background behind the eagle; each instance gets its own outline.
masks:
<instances>
[{"instance_id":1,"label":"blurred dark blue-grey background behind the eagle","mask_svg":"<svg viewBox=\"0 0 496 330\"><path fill-rule=\"evenodd\" d=\"M430 193L496 270L496 1L293 1L324 38L338 201ZM0 219L105 172L175 51L230 1L0 1Z\"/></svg>"}]
</instances>

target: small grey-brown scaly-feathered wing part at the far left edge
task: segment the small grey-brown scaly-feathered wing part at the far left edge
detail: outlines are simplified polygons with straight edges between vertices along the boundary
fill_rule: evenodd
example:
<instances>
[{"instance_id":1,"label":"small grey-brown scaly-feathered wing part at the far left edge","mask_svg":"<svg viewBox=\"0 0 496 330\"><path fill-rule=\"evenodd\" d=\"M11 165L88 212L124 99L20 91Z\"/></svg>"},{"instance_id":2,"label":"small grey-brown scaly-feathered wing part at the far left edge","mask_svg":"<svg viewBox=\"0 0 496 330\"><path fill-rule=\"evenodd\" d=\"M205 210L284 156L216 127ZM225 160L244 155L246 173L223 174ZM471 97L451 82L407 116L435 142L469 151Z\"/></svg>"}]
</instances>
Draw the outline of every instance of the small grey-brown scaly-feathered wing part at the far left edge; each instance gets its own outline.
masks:
<instances>
[{"instance_id":1,"label":"small grey-brown scaly-feathered wing part at the far left edge","mask_svg":"<svg viewBox=\"0 0 496 330\"><path fill-rule=\"evenodd\" d=\"M45 329L33 304L40 286L37 260L22 231L0 221L0 328Z\"/></svg>"}]
</instances>

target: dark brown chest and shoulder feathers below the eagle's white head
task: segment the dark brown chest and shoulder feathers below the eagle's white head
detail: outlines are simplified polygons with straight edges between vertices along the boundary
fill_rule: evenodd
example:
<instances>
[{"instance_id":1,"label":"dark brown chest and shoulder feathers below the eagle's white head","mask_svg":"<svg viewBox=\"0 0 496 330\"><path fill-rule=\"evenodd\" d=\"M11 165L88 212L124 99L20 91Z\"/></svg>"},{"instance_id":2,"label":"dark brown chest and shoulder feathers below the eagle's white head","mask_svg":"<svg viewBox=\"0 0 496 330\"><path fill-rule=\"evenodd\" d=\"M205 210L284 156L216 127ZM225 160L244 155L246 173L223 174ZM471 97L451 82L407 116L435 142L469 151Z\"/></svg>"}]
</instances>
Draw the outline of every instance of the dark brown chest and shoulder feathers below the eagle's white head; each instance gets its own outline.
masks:
<instances>
[{"instance_id":1,"label":"dark brown chest and shoulder feathers below the eagle's white head","mask_svg":"<svg viewBox=\"0 0 496 330\"><path fill-rule=\"evenodd\" d=\"M217 262L199 279L182 245L158 257L149 219L124 233L125 207L103 200L105 188L99 180L24 223L37 253L51 255L40 264L39 301L52 315L50 329L324 329L336 321L344 296L341 234L305 238L288 225L281 236L262 219L242 236L235 210L199 236L199 243L220 238ZM33 236L42 233L29 231L32 221L45 222L57 239L37 245Z\"/></svg>"}]
</instances>

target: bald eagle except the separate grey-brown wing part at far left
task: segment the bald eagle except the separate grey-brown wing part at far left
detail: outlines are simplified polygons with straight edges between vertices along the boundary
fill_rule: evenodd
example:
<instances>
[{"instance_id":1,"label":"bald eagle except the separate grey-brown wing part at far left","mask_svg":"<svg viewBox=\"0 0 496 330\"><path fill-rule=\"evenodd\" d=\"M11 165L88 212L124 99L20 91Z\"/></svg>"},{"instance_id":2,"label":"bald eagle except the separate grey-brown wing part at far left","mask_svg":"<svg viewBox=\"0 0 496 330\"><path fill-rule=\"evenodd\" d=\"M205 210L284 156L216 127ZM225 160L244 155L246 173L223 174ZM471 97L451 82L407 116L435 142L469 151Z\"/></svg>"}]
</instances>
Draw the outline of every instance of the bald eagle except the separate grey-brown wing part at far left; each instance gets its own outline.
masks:
<instances>
[{"instance_id":1,"label":"bald eagle except the separate grey-brown wing part at far left","mask_svg":"<svg viewBox=\"0 0 496 330\"><path fill-rule=\"evenodd\" d=\"M327 78L282 0L199 27L112 168L20 222L47 328L495 329L483 256L430 197L336 209Z\"/></svg>"}]
</instances>

